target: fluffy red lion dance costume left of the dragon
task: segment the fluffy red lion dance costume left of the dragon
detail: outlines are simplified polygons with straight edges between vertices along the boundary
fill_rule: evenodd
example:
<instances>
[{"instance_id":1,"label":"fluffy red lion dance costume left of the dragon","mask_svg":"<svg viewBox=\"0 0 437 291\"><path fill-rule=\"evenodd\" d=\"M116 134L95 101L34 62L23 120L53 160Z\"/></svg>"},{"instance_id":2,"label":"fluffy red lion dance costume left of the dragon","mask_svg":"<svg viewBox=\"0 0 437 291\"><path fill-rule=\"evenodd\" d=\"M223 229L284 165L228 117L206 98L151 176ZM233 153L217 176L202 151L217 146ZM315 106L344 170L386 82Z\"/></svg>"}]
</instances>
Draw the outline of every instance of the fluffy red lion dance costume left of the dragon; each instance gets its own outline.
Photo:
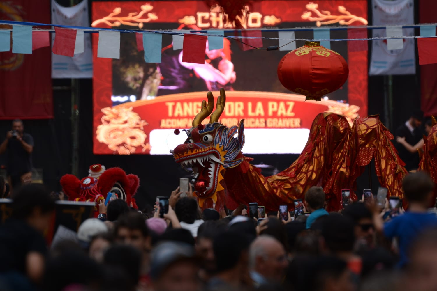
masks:
<instances>
[{"instance_id":1,"label":"fluffy red lion dance costume left of the dragon","mask_svg":"<svg viewBox=\"0 0 437 291\"><path fill-rule=\"evenodd\" d=\"M96 165L90 167L90 176L82 180L79 180L75 175L62 176L60 183L69 200L98 203L106 199L108 193L111 192L117 194L118 199L125 200L129 206L138 208L134 198L139 185L137 175L126 175L121 168L104 170L101 165L99 165L101 168L94 166Z\"/></svg>"}]
</instances>

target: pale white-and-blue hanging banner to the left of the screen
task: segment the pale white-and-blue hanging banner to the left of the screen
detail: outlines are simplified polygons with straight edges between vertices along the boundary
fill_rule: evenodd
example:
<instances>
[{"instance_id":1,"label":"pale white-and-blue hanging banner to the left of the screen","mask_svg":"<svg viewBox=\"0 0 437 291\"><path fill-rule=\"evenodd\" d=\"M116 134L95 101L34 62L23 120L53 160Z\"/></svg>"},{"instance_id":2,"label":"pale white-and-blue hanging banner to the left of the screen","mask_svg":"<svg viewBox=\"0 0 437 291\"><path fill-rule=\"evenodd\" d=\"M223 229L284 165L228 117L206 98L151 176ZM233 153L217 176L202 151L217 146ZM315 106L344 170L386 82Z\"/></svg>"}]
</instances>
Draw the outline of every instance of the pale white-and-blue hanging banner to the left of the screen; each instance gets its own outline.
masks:
<instances>
[{"instance_id":1,"label":"pale white-and-blue hanging banner to the left of the screen","mask_svg":"<svg viewBox=\"0 0 437 291\"><path fill-rule=\"evenodd\" d=\"M88 0L63 7L52 0L52 24L89 27ZM52 45L55 34L52 34ZM78 33L73 58L52 53L52 78L92 78L93 51L89 33Z\"/></svg>"}]
</instances>

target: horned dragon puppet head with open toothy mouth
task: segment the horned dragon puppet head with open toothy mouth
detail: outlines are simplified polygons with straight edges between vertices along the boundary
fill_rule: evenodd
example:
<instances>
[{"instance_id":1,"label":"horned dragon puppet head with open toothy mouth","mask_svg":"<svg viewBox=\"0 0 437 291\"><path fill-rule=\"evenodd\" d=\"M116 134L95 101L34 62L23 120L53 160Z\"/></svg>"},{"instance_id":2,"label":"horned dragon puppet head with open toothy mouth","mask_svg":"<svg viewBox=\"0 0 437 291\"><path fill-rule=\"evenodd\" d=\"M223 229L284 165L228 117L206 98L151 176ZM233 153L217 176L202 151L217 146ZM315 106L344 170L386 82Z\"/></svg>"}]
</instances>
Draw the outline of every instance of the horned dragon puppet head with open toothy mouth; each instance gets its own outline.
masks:
<instances>
[{"instance_id":1,"label":"horned dragon puppet head with open toothy mouth","mask_svg":"<svg viewBox=\"0 0 437 291\"><path fill-rule=\"evenodd\" d=\"M244 145L243 120L238 127L230 128L218 122L225 109L225 90L220 89L214 112L212 92L208 92L207 97L208 104L202 101L201 112L194 117L193 127L186 130L187 140L172 151L175 161L191 167L194 177L197 177L194 190L201 207L204 207L206 199L212 199L214 203L217 201L217 193L224 190L221 182L225 169L236 167L243 161L241 149ZM210 114L209 123L202 125L202 120ZM207 206L212 207L209 203Z\"/></svg>"}]
</instances>

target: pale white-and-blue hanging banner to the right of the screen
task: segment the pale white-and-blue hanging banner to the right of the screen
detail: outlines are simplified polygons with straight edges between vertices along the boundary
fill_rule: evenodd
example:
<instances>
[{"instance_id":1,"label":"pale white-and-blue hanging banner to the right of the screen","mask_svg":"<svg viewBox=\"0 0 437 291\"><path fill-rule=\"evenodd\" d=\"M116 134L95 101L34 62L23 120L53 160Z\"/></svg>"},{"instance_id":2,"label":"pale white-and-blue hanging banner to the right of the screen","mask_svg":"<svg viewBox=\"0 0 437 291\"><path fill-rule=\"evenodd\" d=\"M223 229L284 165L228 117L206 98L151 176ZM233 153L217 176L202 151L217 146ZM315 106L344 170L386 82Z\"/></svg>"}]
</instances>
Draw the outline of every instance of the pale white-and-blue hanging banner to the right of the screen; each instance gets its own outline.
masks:
<instances>
[{"instance_id":1,"label":"pale white-and-blue hanging banner to the right of the screen","mask_svg":"<svg viewBox=\"0 0 437 291\"><path fill-rule=\"evenodd\" d=\"M373 25L414 24L413 0L372 0ZM403 28L403 36L414 36L414 28ZM373 37L387 35L386 29L374 29ZM416 74L414 38L402 39L403 47L389 50L387 40L372 41L372 56L369 75L413 75Z\"/></svg>"}]
</instances>

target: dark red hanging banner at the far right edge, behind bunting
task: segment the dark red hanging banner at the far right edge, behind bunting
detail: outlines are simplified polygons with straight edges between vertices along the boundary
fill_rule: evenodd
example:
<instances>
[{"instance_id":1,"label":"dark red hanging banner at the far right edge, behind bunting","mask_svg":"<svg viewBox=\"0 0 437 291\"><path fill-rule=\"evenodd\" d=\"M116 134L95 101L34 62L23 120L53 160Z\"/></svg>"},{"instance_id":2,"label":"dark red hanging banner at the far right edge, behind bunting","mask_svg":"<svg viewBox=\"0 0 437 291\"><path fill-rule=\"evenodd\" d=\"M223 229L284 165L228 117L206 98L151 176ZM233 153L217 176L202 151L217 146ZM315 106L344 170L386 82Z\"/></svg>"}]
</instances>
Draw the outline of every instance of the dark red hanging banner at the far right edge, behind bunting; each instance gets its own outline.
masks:
<instances>
[{"instance_id":1,"label":"dark red hanging banner at the far right edge, behind bunting","mask_svg":"<svg viewBox=\"0 0 437 291\"><path fill-rule=\"evenodd\" d=\"M436 1L421 0L419 3L420 23L435 22ZM437 64L420 66L421 107L425 116L437 115Z\"/></svg>"}]
</instances>

